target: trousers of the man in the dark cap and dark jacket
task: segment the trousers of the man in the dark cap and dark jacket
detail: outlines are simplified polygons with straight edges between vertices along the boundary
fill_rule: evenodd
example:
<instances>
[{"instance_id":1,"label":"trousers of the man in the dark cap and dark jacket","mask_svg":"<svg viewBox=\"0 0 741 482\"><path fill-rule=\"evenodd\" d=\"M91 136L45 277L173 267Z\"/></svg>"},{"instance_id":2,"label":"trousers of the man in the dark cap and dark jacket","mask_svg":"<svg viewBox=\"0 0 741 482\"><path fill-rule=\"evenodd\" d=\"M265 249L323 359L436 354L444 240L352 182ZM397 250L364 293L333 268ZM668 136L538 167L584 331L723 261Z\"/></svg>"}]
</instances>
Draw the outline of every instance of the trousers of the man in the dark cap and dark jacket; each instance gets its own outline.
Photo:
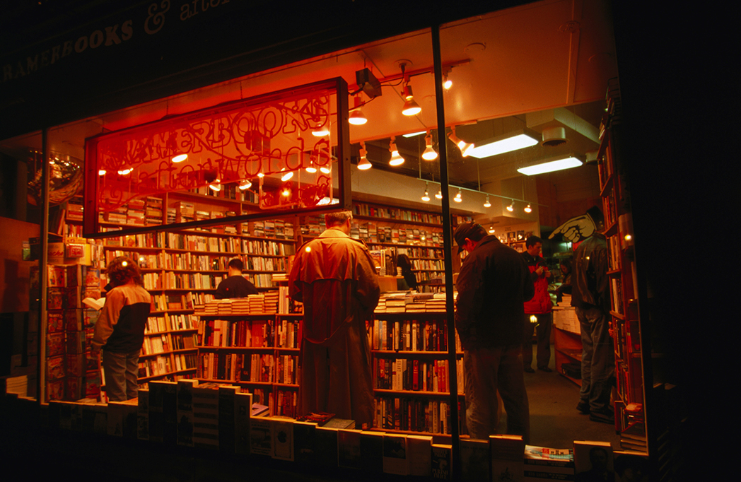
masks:
<instances>
[{"instance_id":1,"label":"trousers of the man in the dark cap and dark jacket","mask_svg":"<svg viewBox=\"0 0 741 482\"><path fill-rule=\"evenodd\" d=\"M496 411L502 396L507 433L530 443L530 408L522 374L522 345L464 350L466 427L471 438L488 440L496 433Z\"/></svg>"}]
</instances>

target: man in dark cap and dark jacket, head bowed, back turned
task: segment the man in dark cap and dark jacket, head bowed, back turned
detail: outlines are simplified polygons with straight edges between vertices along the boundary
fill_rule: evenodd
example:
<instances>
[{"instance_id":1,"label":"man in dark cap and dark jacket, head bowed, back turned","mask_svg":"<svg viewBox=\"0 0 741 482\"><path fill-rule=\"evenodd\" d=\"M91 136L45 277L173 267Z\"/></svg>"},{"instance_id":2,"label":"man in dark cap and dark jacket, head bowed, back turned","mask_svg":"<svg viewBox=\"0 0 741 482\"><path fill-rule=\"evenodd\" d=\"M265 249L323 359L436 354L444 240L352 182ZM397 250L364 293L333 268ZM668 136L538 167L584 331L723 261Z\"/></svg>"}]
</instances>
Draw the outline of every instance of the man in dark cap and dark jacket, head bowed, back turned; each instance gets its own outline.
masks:
<instances>
[{"instance_id":1,"label":"man in dark cap and dark jacket, head bowed, back turned","mask_svg":"<svg viewBox=\"0 0 741 482\"><path fill-rule=\"evenodd\" d=\"M477 223L460 224L453 238L468 255L456 281L456 330L465 366L466 427L471 438L496 433L502 396L507 433L530 440L530 409L522 374L525 301L535 289L522 255Z\"/></svg>"}]
</instances>

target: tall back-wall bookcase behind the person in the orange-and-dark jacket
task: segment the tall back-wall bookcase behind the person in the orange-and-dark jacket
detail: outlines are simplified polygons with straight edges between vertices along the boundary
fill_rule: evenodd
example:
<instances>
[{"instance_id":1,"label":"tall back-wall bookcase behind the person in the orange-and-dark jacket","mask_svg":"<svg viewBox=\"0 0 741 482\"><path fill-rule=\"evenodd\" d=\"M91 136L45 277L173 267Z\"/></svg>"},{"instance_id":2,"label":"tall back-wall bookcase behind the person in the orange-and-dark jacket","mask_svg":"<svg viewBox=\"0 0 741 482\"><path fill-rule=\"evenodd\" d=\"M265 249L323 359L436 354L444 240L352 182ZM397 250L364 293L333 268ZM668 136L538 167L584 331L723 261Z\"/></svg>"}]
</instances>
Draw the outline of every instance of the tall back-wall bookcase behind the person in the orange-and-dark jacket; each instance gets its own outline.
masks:
<instances>
[{"instance_id":1,"label":"tall back-wall bookcase behind the person in the orange-and-dark jacket","mask_svg":"<svg viewBox=\"0 0 741 482\"><path fill-rule=\"evenodd\" d=\"M222 218L256 208L252 193L224 190L219 195L208 195L207 189L201 189L147 197L100 214L99 221L104 230L114 231L132 225ZM270 220L113 236L104 239L102 250L101 268L119 255L136 259L144 288L153 298L139 361L139 382L144 383L196 376L199 323L194 309L213 299L219 282L227 276L231 258L242 259L244 275L259 291L275 291L273 276L286 274L296 240L292 222Z\"/></svg>"}]
</instances>

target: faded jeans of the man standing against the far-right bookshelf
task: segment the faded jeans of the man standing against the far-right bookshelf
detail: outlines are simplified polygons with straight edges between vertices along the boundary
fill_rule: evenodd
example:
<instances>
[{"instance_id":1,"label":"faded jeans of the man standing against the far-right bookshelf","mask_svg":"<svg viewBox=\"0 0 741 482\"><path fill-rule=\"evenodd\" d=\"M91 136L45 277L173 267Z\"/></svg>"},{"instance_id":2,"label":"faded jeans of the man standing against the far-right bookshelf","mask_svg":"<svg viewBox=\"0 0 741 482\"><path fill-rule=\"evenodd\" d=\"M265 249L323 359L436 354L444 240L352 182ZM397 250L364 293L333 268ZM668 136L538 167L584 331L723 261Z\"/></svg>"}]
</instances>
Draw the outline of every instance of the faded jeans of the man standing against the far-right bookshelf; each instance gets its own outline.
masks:
<instances>
[{"instance_id":1,"label":"faded jeans of the man standing against the far-right bookshelf","mask_svg":"<svg viewBox=\"0 0 741 482\"><path fill-rule=\"evenodd\" d=\"M592 412L610 411L615 349L609 329L609 315L597 307L576 307L582 329L582 389L579 400Z\"/></svg>"}]
</instances>

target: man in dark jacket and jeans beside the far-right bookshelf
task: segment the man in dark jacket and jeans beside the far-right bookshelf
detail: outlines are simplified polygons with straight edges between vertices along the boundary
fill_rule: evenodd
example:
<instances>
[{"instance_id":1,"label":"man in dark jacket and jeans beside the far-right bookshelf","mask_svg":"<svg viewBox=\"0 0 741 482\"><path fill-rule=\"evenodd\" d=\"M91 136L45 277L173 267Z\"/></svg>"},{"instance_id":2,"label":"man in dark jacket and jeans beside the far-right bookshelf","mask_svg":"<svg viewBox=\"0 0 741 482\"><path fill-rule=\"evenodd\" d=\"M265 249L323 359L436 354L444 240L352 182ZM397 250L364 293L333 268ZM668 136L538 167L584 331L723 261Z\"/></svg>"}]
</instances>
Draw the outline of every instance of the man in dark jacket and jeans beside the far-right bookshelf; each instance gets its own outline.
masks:
<instances>
[{"instance_id":1,"label":"man in dark jacket and jeans beside the far-right bookshelf","mask_svg":"<svg viewBox=\"0 0 741 482\"><path fill-rule=\"evenodd\" d=\"M597 209L597 208L594 208ZM594 218L602 212L591 210ZM598 230L602 223L597 224ZM582 387L576 409L591 421L614 424L610 395L615 372L615 353L609 333L610 287L605 235L595 231L574 252L571 306L582 330Z\"/></svg>"}]
</instances>

